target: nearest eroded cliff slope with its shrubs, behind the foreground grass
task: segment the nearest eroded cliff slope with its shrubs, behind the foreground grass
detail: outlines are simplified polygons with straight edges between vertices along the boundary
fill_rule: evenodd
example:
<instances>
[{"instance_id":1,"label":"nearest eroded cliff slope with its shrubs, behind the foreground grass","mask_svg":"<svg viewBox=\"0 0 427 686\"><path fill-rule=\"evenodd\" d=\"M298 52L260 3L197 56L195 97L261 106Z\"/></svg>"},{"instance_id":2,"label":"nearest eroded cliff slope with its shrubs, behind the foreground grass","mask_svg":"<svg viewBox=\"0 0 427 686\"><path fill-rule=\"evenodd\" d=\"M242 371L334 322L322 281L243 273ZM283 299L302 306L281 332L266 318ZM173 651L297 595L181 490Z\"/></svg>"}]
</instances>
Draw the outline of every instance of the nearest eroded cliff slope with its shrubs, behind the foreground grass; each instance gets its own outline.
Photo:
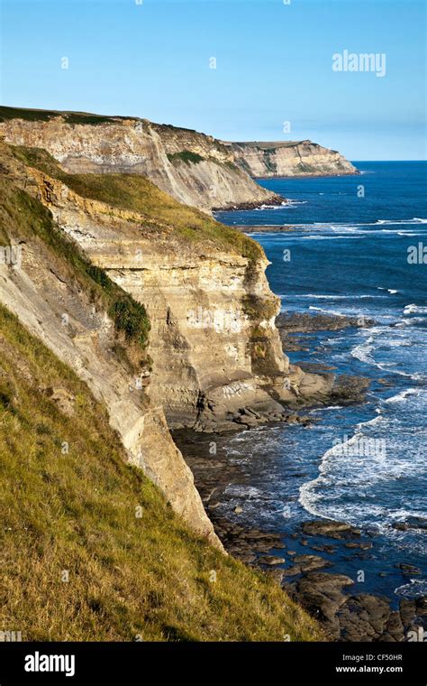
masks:
<instances>
[{"instance_id":1,"label":"nearest eroded cliff slope with its shrubs, behind the foreground grass","mask_svg":"<svg viewBox=\"0 0 427 686\"><path fill-rule=\"evenodd\" d=\"M140 313L61 236L36 199L32 173L5 145L0 165L0 244L13 246L14 255L13 264L0 260L0 301L104 403L127 459L143 468L191 528L222 548L170 437L162 405L150 401L150 357L140 344ZM133 331L139 338L132 340Z\"/></svg>"}]
</instances>

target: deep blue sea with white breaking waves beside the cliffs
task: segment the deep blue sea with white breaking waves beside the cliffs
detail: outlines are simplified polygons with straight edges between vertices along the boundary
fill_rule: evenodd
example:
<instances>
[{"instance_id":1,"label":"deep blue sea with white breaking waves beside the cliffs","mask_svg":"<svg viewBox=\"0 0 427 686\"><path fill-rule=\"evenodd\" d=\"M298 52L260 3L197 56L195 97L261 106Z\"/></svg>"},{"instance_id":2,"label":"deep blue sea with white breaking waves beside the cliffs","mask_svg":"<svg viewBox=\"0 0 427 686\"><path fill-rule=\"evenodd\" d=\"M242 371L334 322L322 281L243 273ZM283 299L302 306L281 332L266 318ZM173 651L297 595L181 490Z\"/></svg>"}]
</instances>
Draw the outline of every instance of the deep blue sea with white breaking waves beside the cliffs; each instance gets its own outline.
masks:
<instances>
[{"instance_id":1,"label":"deep blue sea with white breaking waves beside the cliffs","mask_svg":"<svg viewBox=\"0 0 427 686\"><path fill-rule=\"evenodd\" d=\"M244 478L230 484L220 510L282 533L284 541L315 517L368 531L369 551L339 544L332 554L316 554L353 579L362 570L354 592L396 602L427 594L427 264L408 262L408 249L422 247L427 262L427 165L355 163L356 177L260 181L291 199L287 206L217 214L231 226L292 227L251 234L271 262L268 282L283 311L376 322L304 335L307 351L290 353L291 361L367 376L367 400L314 408L309 414L317 421L307 428L261 427L232 437L228 459ZM404 522L412 528L393 526ZM300 538L288 547L313 552ZM420 573L403 573L400 563Z\"/></svg>"}]
</instances>

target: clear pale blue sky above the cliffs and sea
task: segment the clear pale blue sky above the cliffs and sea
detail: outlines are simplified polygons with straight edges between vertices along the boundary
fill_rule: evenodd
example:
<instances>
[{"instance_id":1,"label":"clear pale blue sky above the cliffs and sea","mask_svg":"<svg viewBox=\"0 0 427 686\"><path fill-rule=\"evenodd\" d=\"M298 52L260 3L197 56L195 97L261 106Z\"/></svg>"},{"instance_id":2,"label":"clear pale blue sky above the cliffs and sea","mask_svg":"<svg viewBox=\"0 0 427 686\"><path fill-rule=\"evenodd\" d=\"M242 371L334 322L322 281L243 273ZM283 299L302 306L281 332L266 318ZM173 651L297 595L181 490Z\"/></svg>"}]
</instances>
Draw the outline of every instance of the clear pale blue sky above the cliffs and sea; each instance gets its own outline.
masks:
<instances>
[{"instance_id":1,"label":"clear pale blue sky above the cliffs and sea","mask_svg":"<svg viewBox=\"0 0 427 686\"><path fill-rule=\"evenodd\" d=\"M3 0L1 102L425 159L424 3L288 2ZM332 70L345 50L386 75Z\"/></svg>"}]
</instances>

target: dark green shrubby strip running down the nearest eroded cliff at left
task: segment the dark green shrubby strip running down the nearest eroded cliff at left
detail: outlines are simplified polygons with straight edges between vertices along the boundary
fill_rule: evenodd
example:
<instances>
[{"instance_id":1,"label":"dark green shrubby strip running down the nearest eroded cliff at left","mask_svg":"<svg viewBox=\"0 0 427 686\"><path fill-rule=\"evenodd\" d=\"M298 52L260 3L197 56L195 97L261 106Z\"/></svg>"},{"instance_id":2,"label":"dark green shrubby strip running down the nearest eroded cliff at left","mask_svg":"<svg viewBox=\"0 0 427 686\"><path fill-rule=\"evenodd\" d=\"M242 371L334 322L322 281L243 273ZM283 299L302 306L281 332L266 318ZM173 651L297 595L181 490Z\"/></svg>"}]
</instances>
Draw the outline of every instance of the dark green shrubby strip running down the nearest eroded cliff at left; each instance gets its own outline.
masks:
<instances>
[{"instance_id":1,"label":"dark green shrubby strip running down the nearest eroded cliff at left","mask_svg":"<svg viewBox=\"0 0 427 686\"><path fill-rule=\"evenodd\" d=\"M68 266L71 280L77 280L98 301L114 320L115 329L123 331L128 340L137 343L144 351L150 331L148 315L132 295L115 284L103 269L91 264L55 225L49 209L40 200L32 198L14 186L7 178L0 179L0 236L10 245L14 240L39 239L52 253L53 261Z\"/></svg>"}]
</instances>

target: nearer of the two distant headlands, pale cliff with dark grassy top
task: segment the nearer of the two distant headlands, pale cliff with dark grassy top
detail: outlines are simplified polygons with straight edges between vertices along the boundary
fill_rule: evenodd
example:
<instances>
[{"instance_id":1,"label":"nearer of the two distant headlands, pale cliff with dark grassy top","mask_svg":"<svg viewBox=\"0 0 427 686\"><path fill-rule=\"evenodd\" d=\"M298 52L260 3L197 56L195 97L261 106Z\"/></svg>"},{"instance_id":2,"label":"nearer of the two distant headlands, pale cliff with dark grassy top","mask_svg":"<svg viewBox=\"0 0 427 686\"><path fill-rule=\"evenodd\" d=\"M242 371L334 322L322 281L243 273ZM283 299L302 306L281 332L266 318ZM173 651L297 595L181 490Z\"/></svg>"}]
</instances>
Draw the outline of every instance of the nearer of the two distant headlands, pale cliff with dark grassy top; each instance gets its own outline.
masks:
<instances>
[{"instance_id":1,"label":"nearer of the two distant headlands, pale cliff with dark grassy top","mask_svg":"<svg viewBox=\"0 0 427 686\"><path fill-rule=\"evenodd\" d=\"M44 148L68 172L143 174L175 199L206 212L283 201L252 181L211 136L145 119L112 117L94 125L70 124L66 116L11 118L0 123L0 134L6 143Z\"/></svg>"}]
</instances>

